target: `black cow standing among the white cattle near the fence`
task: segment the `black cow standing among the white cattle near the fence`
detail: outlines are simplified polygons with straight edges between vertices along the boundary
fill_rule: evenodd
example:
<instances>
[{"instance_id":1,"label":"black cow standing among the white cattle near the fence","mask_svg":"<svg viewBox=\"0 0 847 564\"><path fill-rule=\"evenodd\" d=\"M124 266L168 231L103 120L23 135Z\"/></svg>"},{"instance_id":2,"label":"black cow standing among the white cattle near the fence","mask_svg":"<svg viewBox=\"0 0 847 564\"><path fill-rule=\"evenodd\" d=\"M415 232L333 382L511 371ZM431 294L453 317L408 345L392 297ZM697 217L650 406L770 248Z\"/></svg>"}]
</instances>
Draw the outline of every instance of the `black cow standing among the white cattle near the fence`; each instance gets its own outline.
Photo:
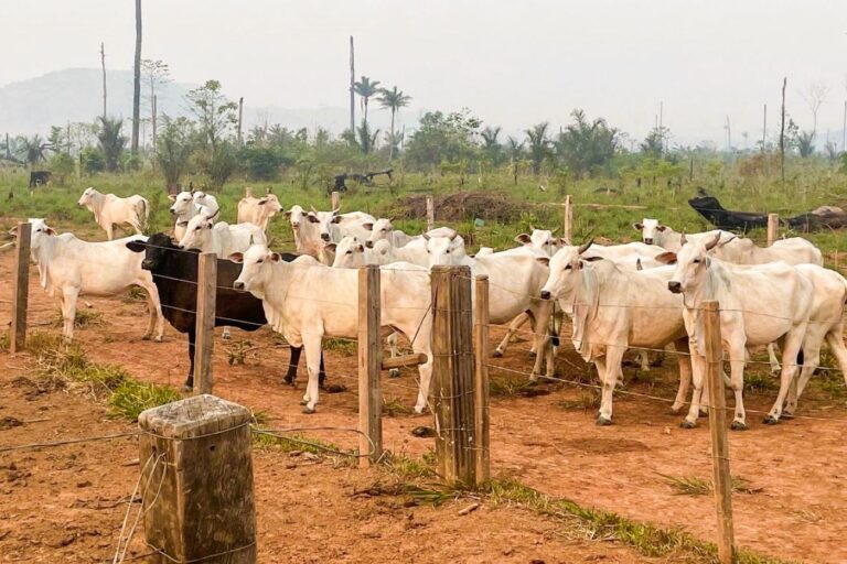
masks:
<instances>
[{"instance_id":1,"label":"black cow standing among the white cattle near the fence","mask_svg":"<svg viewBox=\"0 0 847 564\"><path fill-rule=\"evenodd\" d=\"M200 251L182 250L173 245L167 234L156 234L144 241L130 241L127 248L135 252L144 252L141 268L153 274L153 282L159 290L162 314L174 329L189 334L189 377L185 388L194 387L194 340L197 308L197 264ZM282 253L282 259L291 261L296 254ZM242 267L226 259L217 260L217 294L215 300L215 327L229 326L244 330L256 330L268 322L261 300L247 292L233 290ZM285 382L292 383L297 378L297 365L300 364L302 347L291 347ZM320 384L323 387L326 375L321 357Z\"/></svg>"}]
</instances>

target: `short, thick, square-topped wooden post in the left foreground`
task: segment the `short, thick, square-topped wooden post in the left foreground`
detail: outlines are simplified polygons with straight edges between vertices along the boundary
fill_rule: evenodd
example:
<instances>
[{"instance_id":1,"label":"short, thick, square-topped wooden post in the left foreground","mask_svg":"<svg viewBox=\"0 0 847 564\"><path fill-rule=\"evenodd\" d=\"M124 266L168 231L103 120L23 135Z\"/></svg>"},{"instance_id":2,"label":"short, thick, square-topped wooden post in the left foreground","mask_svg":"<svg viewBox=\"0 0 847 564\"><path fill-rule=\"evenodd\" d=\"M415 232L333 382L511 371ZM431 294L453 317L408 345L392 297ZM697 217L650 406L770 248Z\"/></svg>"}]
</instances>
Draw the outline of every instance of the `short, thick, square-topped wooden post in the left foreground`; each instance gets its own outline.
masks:
<instances>
[{"instance_id":1,"label":"short, thick, square-topped wooden post in the left foreground","mask_svg":"<svg viewBox=\"0 0 847 564\"><path fill-rule=\"evenodd\" d=\"M208 394L139 415L149 562L256 562L250 419Z\"/></svg>"}]
</instances>

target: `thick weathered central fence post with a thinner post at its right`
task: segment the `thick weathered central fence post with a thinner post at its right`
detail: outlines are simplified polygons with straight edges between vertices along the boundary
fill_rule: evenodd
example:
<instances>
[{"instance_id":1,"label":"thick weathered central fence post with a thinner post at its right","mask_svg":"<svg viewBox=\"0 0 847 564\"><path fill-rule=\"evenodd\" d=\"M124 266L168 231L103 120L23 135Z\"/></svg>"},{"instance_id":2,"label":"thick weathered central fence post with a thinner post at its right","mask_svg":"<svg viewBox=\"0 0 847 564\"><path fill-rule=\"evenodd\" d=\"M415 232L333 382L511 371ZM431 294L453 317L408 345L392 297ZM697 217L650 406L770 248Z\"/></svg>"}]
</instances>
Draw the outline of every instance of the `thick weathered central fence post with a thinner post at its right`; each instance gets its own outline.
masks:
<instances>
[{"instance_id":1,"label":"thick weathered central fence post with a thinner post at its right","mask_svg":"<svg viewBox=\"0 0 847 564\"><path fill-rule=\"evenodd\" d=\"M471 269L433 267L432 384L438 474L475 484Z\"/></svg>"}]
</instances>

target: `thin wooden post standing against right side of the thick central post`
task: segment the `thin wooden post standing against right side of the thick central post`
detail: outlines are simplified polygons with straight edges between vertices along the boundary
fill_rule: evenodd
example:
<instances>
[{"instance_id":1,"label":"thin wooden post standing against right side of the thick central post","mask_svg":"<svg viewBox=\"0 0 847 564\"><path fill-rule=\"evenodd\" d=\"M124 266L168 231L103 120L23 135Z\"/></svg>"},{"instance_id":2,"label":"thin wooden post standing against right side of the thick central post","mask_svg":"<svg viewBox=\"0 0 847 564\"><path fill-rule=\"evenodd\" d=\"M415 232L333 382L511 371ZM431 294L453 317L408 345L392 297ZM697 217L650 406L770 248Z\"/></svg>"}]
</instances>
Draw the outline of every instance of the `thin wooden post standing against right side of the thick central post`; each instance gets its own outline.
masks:
<instances>
[{"instance_id":1,"label":"thin wooden post standing against right side of the thick central post","mask_svg":"<svg viewBox=\"0 0 847 564\"><path fill-rule=\"evenodd\" d=\"M473 372L473 413L476 485L481 486L491 478L491 425L489 419L489 276L476 276L476 304L474 305L474 372Z\"/></svg>"}]
</instances>

